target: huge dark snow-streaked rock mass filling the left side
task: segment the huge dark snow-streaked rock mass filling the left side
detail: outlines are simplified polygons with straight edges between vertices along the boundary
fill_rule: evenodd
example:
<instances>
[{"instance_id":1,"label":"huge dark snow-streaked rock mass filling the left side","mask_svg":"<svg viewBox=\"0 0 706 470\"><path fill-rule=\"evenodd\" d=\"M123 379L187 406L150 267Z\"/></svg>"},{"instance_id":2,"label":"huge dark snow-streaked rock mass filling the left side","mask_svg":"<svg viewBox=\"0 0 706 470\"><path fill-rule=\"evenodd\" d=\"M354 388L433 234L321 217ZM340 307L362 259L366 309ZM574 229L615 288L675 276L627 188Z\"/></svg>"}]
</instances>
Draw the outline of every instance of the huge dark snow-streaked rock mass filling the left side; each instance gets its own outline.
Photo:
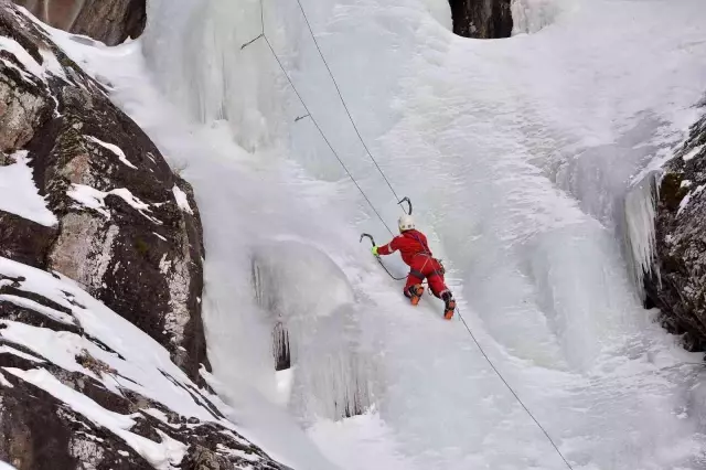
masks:
<instances>
[{"instance_id":1,"label":"huge dark snow-streaked rock mass filling the left side","mask_svg":"<svg viewBox=\"0 0 706 470\"><path fill-rule=\"evenodd\" d=\"M191 186L0 0L0 461L284 469L206 386L203 258Z\"/></svg>"}]
</instances>

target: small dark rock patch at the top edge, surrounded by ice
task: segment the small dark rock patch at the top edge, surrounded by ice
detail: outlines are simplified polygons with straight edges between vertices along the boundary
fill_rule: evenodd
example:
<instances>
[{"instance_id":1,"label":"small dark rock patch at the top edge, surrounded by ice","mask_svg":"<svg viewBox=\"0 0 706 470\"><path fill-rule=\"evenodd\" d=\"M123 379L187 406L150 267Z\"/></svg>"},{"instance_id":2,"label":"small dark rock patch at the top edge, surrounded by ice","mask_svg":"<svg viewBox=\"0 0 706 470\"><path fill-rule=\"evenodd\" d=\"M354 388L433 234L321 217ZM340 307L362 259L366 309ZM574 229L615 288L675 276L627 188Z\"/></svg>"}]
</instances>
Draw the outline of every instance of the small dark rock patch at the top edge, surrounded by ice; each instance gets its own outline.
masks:
<instances>
[{"instance_id":1,"label":"small dark rock patch at the top edge, surrounded by ice","mask_svg":"<svg viewBox=\"0 0 706 470\"><path fill-rule=\"evenodd\" d=\"M498 39L512 34L511 0L449 0L453 32L464 38Z\"/></svg>"}]
</instances>

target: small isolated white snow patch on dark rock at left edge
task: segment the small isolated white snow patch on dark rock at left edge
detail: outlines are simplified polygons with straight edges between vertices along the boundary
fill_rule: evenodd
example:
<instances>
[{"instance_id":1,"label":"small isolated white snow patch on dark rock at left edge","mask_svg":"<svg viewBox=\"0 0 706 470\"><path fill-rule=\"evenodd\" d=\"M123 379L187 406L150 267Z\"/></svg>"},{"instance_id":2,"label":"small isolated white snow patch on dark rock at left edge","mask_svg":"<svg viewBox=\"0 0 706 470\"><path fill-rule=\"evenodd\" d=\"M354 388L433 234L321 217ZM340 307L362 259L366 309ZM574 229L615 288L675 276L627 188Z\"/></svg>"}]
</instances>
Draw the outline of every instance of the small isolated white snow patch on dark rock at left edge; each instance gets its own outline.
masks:
<instances>
[{"instance_id":1,"label":"small isolated white snow patch on dark rock at left edge","mask_svg":"<svg viewBox=\"0 0 706 470\"><path fill-rule=\"evenodd\" d=\"M55 226L58 220L40 195L26 156L25 150L13 153L11 157L15 163L0 167L0 210L40 225Z\"/></svg>"}]
</instances>

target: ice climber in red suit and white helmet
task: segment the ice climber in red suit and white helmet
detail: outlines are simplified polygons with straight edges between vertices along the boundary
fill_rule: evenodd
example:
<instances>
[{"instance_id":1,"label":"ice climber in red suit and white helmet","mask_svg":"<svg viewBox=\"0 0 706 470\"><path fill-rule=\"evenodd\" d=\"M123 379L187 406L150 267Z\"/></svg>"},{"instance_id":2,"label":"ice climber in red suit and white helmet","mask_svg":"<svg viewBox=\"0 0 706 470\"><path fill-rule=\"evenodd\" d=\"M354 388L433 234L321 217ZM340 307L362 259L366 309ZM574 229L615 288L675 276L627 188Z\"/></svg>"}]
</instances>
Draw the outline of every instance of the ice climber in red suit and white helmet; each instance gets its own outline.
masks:
<instances>
[{"instance_id":1,"label":"ice climber in red suit and white helmet","mask_svg":"<svg viewBox=\"0 0 706 470\"><path fill-rule=\"evenodd\" d=\"M373 246L373 255L392 255L399 250L403 261L411 268L404 289L405 296L413 306L419 303L424 295L421 282L427 279L431 293L445 302L443 318L450 320L456 310L456 300L453 300L449 288L446 287L443 266L431 254L427 237L415 229L415 221L410 215L399 217L398 226L399 235L387 245Z\"/></svg>"}]
</instances>

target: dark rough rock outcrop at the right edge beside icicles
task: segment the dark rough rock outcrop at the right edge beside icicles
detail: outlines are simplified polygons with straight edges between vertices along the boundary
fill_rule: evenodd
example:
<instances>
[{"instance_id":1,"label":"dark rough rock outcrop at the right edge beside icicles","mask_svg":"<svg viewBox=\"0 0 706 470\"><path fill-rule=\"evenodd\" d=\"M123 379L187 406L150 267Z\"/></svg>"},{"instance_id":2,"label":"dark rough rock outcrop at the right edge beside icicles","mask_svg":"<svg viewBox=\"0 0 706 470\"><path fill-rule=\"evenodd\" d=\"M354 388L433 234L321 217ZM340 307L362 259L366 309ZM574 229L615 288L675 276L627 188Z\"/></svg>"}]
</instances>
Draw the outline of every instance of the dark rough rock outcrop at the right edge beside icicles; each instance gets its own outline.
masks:
<instances>
[{"instance_id":1,"label":"dark rough rock outcrop at the right edge beside icicles","mask_svg":"<svg viewBox=\"0 0 706 470\"><path fill-rule=\"evenodd\" d=\"M692 351L706 351L706 115L659 182L649 306Z\"/></svg>"}]
</instances>

